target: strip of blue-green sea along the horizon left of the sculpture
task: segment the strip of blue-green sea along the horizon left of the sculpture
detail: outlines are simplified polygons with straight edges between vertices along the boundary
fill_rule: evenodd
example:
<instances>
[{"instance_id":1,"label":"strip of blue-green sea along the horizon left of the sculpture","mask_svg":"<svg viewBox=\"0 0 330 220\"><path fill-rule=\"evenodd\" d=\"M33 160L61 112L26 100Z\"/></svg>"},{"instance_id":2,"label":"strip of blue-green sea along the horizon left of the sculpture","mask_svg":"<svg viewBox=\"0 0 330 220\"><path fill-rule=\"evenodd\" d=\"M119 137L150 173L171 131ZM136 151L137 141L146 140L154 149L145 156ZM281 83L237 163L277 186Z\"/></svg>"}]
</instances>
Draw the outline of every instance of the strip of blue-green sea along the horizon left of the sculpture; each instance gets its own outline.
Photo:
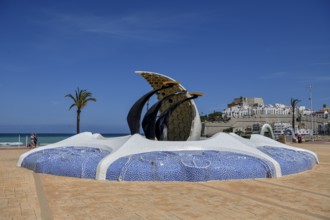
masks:
<instances>
[{"instance_id":1,"label":"strip of blue-green sea along the horizon left of the sculpture","mask_svg":"<svg viewBox=\"0 0 330 220\"><path fill-rule=\"evenodd\" d=\"M47 144L56 143L62 141L66 138L69 138L75 134L69 133L40 133L36 134L38 137L38 146L44 146ZM128 134L102 134L103 137L119 137L125 136ZM3 146L27 146L30 143L30 133L10 133L10 134L1 134L0 133L0 148ZM21 143L21 144L19 144Z\"/></svg>"}]
</instances>

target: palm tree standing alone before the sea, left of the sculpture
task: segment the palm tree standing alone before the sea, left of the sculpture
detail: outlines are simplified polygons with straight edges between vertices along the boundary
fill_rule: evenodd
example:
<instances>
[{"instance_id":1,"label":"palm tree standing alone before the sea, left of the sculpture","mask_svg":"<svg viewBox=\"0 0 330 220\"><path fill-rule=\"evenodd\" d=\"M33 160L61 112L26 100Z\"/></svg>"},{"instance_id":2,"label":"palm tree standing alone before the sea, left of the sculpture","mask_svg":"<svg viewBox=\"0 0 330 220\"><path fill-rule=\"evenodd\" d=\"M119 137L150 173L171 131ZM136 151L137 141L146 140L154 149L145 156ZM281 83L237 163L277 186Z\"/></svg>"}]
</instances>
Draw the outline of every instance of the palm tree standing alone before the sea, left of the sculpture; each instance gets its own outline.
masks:
<instances>
[{"instance_id":1,"label":"palm tree standing alone before the sea, left of the sculpture","mask_svg":"<svg viewBox=\"0 0 330 220\"><path fill-rule=\"evenodd\" d=\"M81 110L87 105L87 102L94 101L96 99L92 97L92 93L88 92L86 89L80 90L79 87L76 90L76 95L67 94L65 97L69 97L73 100L73 104L70 106L71 110L74 106L77 107L77 134L80 133L80 113Z\"/></svg>"}]
</instances>

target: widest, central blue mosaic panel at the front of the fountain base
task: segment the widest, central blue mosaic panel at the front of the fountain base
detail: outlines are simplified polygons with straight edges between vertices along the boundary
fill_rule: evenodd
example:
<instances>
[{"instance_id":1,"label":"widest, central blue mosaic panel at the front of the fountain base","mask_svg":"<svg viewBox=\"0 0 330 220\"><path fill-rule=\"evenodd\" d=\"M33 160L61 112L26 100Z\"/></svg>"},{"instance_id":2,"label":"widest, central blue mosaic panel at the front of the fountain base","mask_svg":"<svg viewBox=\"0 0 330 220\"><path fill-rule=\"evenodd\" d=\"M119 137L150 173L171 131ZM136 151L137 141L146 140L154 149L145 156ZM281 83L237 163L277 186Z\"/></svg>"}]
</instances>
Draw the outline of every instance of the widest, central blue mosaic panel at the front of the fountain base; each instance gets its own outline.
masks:
<instances>
[{"instance_id":1,"label":"widest, central blue mosaic panel at the front of the fountain base","mask_svg":"<svg viewBox=\"0 0 330 220\"><path fill-rule=\"evenodd\" d=\"M125 181L208 181L274 176L266 160L222 151L158 151L122 157L106 179Z\"/></svg>"}]
</instances>

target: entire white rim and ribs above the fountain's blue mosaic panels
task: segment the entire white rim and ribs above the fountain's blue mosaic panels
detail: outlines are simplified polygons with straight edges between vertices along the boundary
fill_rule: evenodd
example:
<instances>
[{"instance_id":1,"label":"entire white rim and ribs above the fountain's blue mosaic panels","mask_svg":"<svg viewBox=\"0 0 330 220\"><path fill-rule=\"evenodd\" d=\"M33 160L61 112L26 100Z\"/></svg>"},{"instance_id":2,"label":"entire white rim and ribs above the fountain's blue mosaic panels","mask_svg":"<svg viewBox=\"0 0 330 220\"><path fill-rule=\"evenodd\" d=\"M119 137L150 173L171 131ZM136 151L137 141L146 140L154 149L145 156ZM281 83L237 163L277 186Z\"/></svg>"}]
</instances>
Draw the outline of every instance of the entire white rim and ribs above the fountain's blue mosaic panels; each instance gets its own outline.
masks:
<instances>
[{"instance_id":1,"label":"entire white rim and ribs above the fountain's blue mosaic panels","mask_svg":"<svg viewBox=\"0 0 330 220\"><path fill-rule=\"evenodd\" d=\"M278 162L261 152L258 147L272 146L292 149L295 151L305 151L314 155L318 162L317 155L312 151L291 147L261 135L252 135L251 140L247 140L235 134L217 133L211 138L199 141L154 141L148 140L139 134L133 136L127 135L122 137L104 138L100 134L84 132L69 137L63 141L38 147L22 154L17 162L17 166L20 167L24 158L34 152L69 146L100 148L110 152L98 164L96 179L100 180L106 179L108 168L119 158L133 154L156 151L215 150L246 154L267 160L273 164L275 168L275 177L280 177L282 175Z\"/></svg>"}]
</instances>

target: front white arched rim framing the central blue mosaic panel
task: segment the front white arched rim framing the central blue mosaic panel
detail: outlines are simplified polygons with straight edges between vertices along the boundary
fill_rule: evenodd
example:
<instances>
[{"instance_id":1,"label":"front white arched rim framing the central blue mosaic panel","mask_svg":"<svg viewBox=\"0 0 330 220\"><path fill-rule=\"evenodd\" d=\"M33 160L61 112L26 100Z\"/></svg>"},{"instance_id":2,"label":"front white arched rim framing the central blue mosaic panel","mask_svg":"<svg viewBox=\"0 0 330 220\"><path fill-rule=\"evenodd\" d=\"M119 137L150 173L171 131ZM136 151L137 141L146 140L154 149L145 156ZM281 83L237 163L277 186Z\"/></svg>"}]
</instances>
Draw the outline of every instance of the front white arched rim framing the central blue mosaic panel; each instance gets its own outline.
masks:
<instances>
[{"instance_id":1,"label":"front white arched rim framing the central blue mosaic panel","mask_svg":"<svg viewBox=\"0 0 330 220\"><path fill-rule=\"evenodd\" d=\"M96 179L105 180L108 168L113 162L119 158L139 154L146 152L156 152L156 151L197 151L197 150L215 150L215 151L226 151L241 153L259 159L264 159L270 161L268 157L259 151L258 149L251 148L243 144L242 142L236 140L234 137L225 134L217 133L211 138L200 141L153 141L142 137L139 134L133 135L127 140L118 150L104 157L98 167L96 172ZM276 164L272 163L275 168L276 177L281 176L280 169L276 168Z\"/></svg>"}]
</instances>

